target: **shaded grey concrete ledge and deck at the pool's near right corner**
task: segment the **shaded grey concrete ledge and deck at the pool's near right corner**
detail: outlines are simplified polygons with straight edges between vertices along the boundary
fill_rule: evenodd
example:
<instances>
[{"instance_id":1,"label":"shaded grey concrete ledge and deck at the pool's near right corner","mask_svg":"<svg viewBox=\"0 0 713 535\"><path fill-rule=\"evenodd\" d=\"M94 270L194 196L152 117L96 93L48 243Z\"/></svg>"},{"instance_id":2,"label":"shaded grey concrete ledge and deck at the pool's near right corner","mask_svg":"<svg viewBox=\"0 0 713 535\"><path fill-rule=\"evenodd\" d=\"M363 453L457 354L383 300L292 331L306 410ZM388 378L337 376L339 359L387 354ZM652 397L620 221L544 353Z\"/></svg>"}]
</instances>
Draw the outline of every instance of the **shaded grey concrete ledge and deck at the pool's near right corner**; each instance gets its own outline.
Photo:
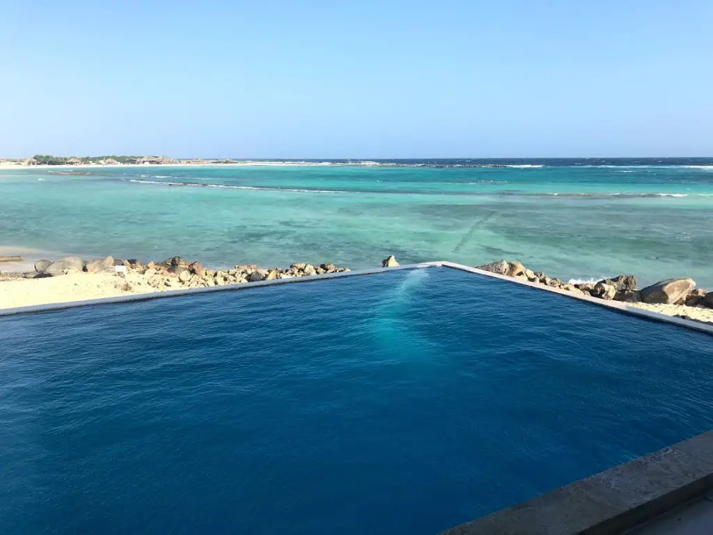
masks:
<instances>
[{"instance_id":1,"label":"shaded grey concrete ledge and deck at the pool's near right corner","mask_svg":"<svg viewBox=\"0 0 713 535\"><path fill-rule=\"evenodd\" d=\"M712 493L709 431L443 535L708 535Z\"/></svg>"}]
</instances>

